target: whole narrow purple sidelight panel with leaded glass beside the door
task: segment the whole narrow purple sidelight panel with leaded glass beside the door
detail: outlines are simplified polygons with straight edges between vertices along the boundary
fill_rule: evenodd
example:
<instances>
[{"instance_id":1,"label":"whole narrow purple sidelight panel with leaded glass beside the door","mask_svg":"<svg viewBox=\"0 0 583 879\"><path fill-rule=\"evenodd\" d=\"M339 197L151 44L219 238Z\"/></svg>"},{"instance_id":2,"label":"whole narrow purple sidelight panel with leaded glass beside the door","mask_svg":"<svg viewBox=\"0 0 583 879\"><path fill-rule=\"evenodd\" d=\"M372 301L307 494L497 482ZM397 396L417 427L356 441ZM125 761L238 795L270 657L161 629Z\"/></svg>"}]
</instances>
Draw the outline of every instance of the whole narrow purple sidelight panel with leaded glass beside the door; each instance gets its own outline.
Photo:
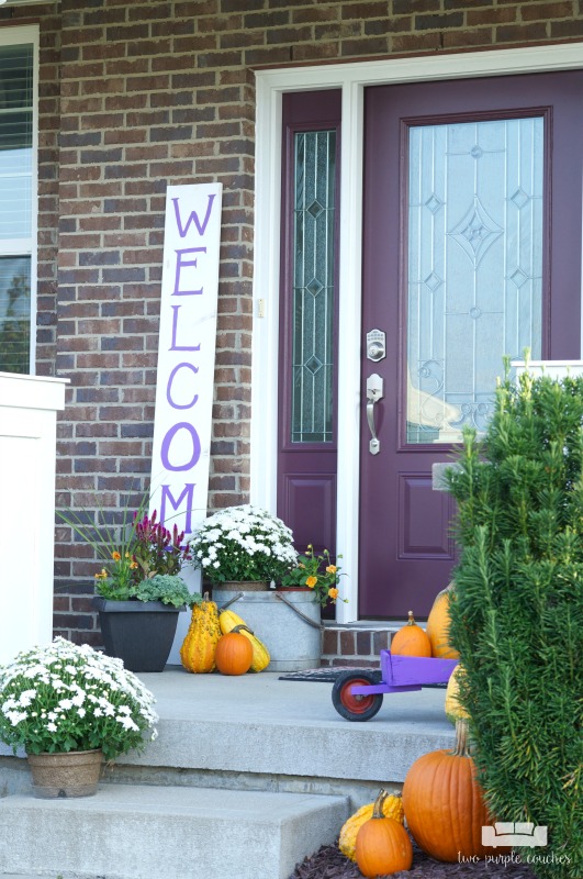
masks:
<instances>
[{"instance_id":1,"label":"whole narrow purple sidelight panel with leaded glass beside the door","mask_svg":"<svg viewBox=\"0 0 583 879\"><path fill-rule=\"evenodd\" d=\"M278 515L298 549L336 547L341 96L282 102Z\"/></svg>"}]
</instances>

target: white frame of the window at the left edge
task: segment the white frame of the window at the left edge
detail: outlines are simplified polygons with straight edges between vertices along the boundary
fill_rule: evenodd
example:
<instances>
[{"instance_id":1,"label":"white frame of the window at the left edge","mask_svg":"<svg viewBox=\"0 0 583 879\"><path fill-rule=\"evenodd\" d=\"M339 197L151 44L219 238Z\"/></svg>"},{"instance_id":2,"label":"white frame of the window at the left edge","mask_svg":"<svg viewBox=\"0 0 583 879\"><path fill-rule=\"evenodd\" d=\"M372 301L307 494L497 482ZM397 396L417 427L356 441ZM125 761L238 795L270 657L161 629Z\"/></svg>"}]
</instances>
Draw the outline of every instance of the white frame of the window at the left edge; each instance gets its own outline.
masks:
<instances>
[{"instance_id":1,"label":"white frame of the window at the left edge","mask_svg":"<svg viewBox=\"0 0 583 879\"><path fill-rule=\"evenodd\" d=\"M33 46L33 137L31 180L31 235L29 238L0 240L0 256L31 257L31 344L29 372L36 371L36 296L38 260L38 25L2 27L0 48L23 44Z\"/></svg>"}]
</instances>

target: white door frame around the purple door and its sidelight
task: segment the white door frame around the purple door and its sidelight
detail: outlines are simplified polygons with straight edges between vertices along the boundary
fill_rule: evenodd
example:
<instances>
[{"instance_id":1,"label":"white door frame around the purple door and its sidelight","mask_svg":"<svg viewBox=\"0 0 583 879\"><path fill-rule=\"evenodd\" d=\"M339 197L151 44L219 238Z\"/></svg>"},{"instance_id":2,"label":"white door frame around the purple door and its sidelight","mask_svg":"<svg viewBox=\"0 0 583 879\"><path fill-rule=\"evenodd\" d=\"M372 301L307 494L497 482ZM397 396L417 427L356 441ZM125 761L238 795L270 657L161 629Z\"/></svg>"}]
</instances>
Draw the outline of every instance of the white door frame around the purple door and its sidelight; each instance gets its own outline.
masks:
<instances>
[{"instance_id":1,"label":"white door frame around the purple door and its sidelight","mask_svg":"<svg viewBox=\"0 0 583 879\"><path fill-rule=\"evenodd\" d=\"M583 68L583 43L323 64L256 71L256 190L250 427L250 501L277 509L281 96L341 88L337 547L343 597L337 622L358 619L361 229L365 88ZM582 242L583 257L583 242ZM583 315L583 309L582 309ZM583 323L583 316L582 316ZM582 332L583 340L583 332ZM261 401L260 405L253 405Z\"/></svg>"}]
</instances>

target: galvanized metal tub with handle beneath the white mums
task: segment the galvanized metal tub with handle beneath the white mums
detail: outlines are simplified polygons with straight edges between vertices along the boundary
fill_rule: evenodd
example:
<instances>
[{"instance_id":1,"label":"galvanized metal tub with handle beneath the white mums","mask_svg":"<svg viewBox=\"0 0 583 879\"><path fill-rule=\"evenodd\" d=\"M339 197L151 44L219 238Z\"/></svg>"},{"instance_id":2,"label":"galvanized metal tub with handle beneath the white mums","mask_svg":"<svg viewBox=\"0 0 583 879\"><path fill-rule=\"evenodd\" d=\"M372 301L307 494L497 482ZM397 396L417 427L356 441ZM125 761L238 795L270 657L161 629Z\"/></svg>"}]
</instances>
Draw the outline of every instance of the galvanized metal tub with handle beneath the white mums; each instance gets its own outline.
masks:
<instances>
[{"instance_id":1,"label":"galvanized metal tub with handle beneath the white mums","mask_svg":"<svg viewBox=\"0 0 583 879\"><path fill-rule=\"evenodd\" d=\"M304 671L318 668L322 653L321 608L310 589L248 591L246 583L213 587L218 608L231 604L269 650L268 671ZM240 588L238 588L240 586ZM290 607L291 605L291 607Z\"/></svg>"}]
</instances>

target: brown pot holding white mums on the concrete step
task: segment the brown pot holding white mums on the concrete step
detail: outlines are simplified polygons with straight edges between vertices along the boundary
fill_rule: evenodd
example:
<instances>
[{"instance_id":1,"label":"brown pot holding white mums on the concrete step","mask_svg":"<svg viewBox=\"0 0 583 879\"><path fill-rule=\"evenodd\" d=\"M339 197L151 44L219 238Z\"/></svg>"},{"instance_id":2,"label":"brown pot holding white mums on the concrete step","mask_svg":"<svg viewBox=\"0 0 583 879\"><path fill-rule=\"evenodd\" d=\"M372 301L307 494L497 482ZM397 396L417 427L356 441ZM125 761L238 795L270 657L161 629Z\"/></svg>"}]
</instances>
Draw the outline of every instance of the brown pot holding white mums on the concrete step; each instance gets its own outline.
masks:
<instances>
[{"instance_id":1,"label":"brown pot holding white mums on the concrete step","mask_svg":"<svg viewBox=\"0 0 583 879\"><path fill-rule=\"evenodd\" d=\"M102 760L100 748L29 754L33 793L43 800L92 797L97 792Z\"/></svg>"}]
</instances>

